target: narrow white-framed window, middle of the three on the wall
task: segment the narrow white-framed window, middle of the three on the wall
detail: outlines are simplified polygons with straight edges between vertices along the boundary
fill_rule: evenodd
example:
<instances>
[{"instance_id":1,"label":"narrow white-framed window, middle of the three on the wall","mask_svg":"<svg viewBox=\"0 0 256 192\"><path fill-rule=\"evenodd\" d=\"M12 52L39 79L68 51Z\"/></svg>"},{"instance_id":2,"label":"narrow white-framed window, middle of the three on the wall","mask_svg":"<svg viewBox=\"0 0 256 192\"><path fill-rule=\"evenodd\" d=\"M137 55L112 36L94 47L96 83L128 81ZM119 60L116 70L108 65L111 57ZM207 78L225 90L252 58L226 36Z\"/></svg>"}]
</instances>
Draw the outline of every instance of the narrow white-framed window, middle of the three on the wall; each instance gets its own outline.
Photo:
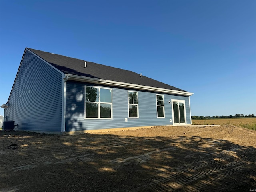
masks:
<instances>
[{"instance_id":1,"label":"narrow white-framed window, middle of the three on the wall","mask_svg":"<svg viewBox=\"0 0 256 192\"><path fill-rule=\"evenodd\" d=\"M138 118L138 92L128 91L129 118Z\"/></svg>"}]
</instances>

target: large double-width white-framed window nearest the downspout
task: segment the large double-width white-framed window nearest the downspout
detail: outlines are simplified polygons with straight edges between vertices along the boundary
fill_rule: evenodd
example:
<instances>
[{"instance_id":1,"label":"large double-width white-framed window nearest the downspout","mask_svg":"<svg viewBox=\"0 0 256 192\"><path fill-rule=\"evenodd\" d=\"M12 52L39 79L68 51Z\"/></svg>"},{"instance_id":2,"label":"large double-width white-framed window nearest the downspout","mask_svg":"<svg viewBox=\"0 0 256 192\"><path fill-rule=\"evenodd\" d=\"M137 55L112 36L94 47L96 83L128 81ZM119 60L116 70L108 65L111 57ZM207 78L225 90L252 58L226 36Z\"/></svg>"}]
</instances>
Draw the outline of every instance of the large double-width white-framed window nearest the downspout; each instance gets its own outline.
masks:
<instances>
[{"instance_id":1,"label":"large double-width white-framed window nearest the downspout","mask_svg":"<svg viewBox=\"0 0 256 192\"><path fill-rule=\"evenodd\" d=\"M85 86L85 118L112 118L112 89Z\"/></svg>"}]
</instances>

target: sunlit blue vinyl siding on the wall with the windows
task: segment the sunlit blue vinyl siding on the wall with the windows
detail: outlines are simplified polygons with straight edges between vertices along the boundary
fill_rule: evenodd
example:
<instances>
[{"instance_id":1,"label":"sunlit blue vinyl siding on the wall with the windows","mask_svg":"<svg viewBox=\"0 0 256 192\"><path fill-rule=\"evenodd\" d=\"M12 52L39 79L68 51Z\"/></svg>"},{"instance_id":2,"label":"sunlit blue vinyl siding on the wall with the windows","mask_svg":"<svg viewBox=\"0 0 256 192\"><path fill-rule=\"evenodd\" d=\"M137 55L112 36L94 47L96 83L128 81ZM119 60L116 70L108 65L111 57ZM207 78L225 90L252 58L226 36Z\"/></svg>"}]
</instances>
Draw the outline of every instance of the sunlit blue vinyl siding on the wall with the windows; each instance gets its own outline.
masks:
<instances>
[{"instance_id":1,"label":"sunlit blue vinyl siding on the wall with the windows","mask_svg":"<svg viewBox=\"0 0 256 192\"><path fill-rule=\"evenodd\" d=\"M84 86L82 82L68 81L66 84L66 131L97 130L139 126L172 125L172 99L185 100L186 121L190 122L188 96L176 96L156 92L112 88L112 119L84 119ZM102 85L94 85L104 87ZM108 87L109 88L109 87ZM128 118L128 91L138 92L139 118ZM156 94L164 95L165 118L157 118ZM125 118L128 121L125 122Z\"/></svg>"}]
</instances>

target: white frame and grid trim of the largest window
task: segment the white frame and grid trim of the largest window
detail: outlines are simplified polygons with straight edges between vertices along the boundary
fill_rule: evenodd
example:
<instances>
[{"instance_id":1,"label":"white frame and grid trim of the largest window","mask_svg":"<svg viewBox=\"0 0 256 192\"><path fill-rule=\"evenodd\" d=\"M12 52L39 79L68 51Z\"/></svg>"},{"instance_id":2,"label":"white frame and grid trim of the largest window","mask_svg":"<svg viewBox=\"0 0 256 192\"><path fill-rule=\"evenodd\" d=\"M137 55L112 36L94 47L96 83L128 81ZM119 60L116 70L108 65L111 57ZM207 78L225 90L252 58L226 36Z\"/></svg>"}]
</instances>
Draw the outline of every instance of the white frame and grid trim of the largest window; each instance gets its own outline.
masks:
<instances>
[{"instance_id":1,"label":"white frame and grid trim of the largest window","mask_svg":"<svg viewBox=\"0 0 256 192\"><path fill-rule=\"evenodd\" d=\"M98 88L99 89L99 101L98 102L86 102L86 87L93 87L93 88ZM111 90L111 103L106 103L106 102L100 102L100 89L108 89ZM84 86L84 119L113 119L113 90L111 88L106 88L106 87L98 87L98 86ZM97 103L98 104L98 117L86 117L86 103ZM100 117L100 104L110 104L111 105L111 117Z\"/></svg>"}]
</instances>

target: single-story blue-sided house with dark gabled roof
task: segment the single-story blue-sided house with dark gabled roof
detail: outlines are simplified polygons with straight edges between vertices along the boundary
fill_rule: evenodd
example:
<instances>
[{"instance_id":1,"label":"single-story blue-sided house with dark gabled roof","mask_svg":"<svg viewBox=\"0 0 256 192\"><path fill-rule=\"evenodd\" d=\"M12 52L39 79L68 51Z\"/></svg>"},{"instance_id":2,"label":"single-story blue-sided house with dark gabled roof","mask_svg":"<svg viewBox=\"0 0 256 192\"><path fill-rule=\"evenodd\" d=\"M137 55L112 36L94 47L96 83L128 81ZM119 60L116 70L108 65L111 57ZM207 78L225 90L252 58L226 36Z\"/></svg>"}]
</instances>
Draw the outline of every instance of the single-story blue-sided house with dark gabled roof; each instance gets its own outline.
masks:
<instances>
[{"instance_id":1,"label":"single-story blue-sided house with dark gabled roof","mask_svg":"<svg viewBox=\"0 0 256 192\"><path fill-rule=\"evenodd\" d=\"M18 130L75 134L191 124L192 94L132 71L26 48L1 107Z\"/></svg>"}]
</instances>

